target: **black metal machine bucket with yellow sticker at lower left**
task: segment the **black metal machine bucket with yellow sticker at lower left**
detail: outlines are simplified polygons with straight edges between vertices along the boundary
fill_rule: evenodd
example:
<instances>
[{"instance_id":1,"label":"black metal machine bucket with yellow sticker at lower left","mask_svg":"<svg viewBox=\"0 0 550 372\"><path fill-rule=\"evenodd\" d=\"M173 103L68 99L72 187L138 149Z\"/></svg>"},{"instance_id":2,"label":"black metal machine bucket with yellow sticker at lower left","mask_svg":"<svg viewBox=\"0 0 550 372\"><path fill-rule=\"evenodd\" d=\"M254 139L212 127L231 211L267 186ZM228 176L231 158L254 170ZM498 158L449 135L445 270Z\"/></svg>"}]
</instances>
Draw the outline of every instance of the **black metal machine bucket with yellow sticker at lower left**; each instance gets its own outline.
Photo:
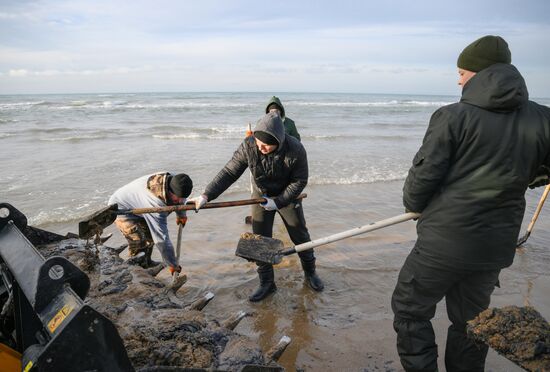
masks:
<instances>
[{"instance_id":1,"label":"black metal machine bucket with yellow sticker at lower left","mask_svg":"<svg viewBox=\"0 0 550 372\"><path fill-rule=\"evenodd\" d=\"M23 370L133 371L113 323L84 303L88 276L64 257L44 259L20 230L23 215L7 203L0 211L0 308L11 302L2 316L13 319L8 342Z\"/></svg>"}]
</instances>

